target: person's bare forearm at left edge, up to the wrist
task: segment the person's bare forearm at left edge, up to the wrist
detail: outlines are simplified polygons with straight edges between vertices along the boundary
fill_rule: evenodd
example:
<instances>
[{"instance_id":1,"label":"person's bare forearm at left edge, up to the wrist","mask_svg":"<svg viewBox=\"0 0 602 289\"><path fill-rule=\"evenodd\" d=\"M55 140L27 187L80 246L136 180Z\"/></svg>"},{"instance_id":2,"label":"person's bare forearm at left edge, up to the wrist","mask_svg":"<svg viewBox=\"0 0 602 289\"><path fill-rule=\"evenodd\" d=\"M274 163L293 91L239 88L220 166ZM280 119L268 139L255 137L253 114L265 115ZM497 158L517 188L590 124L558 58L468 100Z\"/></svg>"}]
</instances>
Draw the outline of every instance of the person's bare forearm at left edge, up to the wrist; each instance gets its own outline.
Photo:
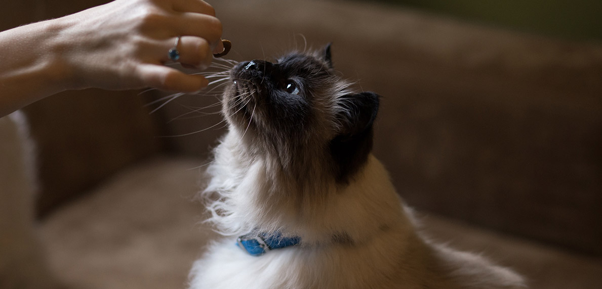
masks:
<instances>
[{"instance_id":1,"label":"person's bare forearm at left edge, up to the wrist","mask_svg":"<svg viewBox=\"0 0 602 289\"><path fill-rule=\"evenodd\" d=\"M0 32L0 117L72 88L61 61L57 20Z\"/></svg>"}]
</instances>

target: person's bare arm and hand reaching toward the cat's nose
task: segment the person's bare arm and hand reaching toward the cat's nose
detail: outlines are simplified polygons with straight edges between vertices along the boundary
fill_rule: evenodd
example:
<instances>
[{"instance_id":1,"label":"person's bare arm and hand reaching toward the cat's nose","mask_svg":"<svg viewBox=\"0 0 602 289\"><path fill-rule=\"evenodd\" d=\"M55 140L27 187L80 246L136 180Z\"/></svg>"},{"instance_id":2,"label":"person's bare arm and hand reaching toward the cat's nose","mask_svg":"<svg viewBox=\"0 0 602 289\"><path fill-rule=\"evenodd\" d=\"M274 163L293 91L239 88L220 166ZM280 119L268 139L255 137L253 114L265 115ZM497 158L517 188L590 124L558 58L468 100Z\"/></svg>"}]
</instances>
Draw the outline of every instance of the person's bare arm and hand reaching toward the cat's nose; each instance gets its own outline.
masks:
<instances>
[{"instance_id":1,"label":"person's bare arm and hand reaching toward the cat's nose","mask_svg":"<svg viewBox=\"0 0 602 289\"><path fill-rule=\"evenodd\" d=\"M0 32L0 116L64 90L200 90L205 78L164 65L179 35L182 64L205 68L223 50L200 0L117 0Z\"/></svg>"}]
</instances>

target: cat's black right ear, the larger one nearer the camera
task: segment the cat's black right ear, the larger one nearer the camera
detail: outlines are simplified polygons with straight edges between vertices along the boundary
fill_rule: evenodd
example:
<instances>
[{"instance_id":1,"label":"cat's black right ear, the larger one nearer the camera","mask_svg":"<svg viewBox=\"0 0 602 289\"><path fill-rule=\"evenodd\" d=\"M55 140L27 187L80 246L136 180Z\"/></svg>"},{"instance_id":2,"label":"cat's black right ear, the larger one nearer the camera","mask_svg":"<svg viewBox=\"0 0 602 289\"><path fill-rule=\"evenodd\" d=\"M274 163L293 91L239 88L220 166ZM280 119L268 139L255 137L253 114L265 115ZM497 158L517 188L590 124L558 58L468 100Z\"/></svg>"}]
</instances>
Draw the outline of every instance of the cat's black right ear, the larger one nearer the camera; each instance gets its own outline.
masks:
<instances>
[{"instance_id":1,"label":"cat's black right ear, the larger one nearer the camera","mask_svg":"<svg viewBox=\"0 0 602 289\"><path fill-rule=\"evenodd\" d=\"M378 112L379 96L364 92L344 96L340 101L349 111L340 115L344 128L330 141L330 155L335 163L335 180L348 183L365 165L372 150L372 127Z\"/></svg>"}]
</instances>

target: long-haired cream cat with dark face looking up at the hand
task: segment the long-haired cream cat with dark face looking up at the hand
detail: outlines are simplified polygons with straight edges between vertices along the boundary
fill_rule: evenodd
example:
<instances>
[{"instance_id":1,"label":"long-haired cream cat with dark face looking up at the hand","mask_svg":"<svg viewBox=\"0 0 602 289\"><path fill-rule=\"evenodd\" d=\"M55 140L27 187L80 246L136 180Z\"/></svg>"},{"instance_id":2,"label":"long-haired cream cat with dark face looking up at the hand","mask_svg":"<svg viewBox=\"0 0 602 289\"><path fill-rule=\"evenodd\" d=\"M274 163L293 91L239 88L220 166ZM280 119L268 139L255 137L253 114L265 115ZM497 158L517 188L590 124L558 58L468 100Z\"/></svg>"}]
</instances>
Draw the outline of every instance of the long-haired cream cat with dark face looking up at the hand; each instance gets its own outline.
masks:
<instances>
[{"instance_id":1,"label":"long-haired cream cat with dark face looking up at the hand","mask_svg":"<svg viewBox=\"0 0 602 289\"><path fill-rule=\"evenodd\" d=\"M417 232L370 153L379 96L341 79L329 46L240 62L229 81L228 133L204 195L210 221L234 237L196 261L190 288L524 287L509 269Z\"/></svg>"}]
</instances>

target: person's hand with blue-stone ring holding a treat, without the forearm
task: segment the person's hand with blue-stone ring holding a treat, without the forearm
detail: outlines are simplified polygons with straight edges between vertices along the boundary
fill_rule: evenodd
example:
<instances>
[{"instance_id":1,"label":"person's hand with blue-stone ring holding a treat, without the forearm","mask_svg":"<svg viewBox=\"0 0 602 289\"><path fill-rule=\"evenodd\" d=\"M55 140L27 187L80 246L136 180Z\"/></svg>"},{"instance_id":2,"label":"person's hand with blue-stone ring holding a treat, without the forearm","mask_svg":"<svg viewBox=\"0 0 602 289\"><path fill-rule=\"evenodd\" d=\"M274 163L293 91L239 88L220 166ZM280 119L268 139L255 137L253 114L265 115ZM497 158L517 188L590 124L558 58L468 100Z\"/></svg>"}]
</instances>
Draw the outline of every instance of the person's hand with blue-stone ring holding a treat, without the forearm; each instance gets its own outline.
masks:
<instances>
[{"instance_id":1,"label":"person's hand with blue-stone ring holding a treat, without the forearm","mask_svg":"<svg viewBox=\"0 0 602 289\"><path fill-rule=\"evenodd\" d=\"M222 23L202 0L116 0L51 21L66 89L198 91L208 81L164 65L167 51L181 35L178 62L203 69L223 50Z\"/></svg>"}]
</instances>

